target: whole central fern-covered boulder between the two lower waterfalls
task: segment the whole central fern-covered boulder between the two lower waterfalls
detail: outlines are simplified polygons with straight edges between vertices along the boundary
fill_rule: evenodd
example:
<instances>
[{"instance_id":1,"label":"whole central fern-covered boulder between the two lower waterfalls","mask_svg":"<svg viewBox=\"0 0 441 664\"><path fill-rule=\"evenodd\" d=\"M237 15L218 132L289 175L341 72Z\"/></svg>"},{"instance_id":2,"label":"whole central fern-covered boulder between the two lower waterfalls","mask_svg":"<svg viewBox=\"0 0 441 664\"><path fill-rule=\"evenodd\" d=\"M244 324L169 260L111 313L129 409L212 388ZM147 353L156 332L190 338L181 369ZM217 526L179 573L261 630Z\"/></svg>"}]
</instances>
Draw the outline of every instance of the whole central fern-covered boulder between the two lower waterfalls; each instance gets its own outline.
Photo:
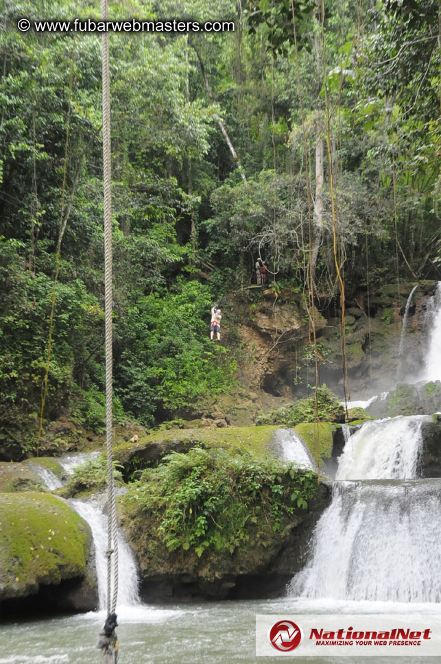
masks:
<instances>
[{"instance_id":1,"label":"whole central fern-covered boulder between the two lower waterfalls","mask_svg":"<svg viewBox=\"0 0 441 664\"><path fill-rule=\"evenodd\" d=\"M276 582L280 593L329 498L313 473L276 460L220 450L173 455L120 501L141 594L265 597Z\"/></svg>"}]
</instances>

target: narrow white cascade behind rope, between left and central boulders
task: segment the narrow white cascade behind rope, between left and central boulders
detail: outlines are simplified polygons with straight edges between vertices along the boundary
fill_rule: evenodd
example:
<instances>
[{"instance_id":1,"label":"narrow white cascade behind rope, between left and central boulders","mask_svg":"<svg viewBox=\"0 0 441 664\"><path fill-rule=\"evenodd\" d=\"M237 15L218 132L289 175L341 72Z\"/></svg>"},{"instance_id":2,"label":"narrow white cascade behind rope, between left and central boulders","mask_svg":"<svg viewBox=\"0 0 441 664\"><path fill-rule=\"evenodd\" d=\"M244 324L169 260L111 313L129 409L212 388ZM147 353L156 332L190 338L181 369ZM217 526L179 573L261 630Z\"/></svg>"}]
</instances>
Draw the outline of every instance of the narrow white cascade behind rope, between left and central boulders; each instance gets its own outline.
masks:
<instances>
[{"instance_id":1,"label":"narrow white cascade behind rope, between left and central boulders","mask_svg":"<svg viewBox=\"0 0 441 664\"><path fill-rule=\"evenodd\" d=\"M106 608L107 596L107 517L103 514L102 502L97 500L82 501L71 499L69 501L75 512L87 521L91 527L93 543L95 545L95 565L97 569L99 608ZM132 551L118 530L118 556L119 556L119 584L118 606L136 606L140 603L138 594L138 570ZM112 565L112 591L113 593L113 565Z\"/></svg>"}]
</instances>

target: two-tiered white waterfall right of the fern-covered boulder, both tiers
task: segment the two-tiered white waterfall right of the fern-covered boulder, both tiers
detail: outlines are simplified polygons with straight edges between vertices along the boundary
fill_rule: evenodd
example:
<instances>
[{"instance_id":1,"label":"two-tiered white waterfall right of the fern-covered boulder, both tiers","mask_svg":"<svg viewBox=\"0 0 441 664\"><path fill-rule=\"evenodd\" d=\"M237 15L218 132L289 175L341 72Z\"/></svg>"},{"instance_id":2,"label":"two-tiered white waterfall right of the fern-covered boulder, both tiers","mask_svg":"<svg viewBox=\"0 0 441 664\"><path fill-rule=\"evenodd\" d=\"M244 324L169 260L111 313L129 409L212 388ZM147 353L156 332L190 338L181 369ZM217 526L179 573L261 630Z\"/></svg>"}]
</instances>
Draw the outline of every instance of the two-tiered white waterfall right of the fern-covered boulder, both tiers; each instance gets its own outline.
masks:
<instances>
[{"instance_id":1,"label":"two-tiered white waterfall right of the fern-covered boulder, both tiers","mask_svg":"<svg viewBox=\"0 0 441 664\"><path fill-rule=\"evenodd\" d=\"M441 479L414 479L425 417L368 422L351 436L344 431L340 481L289 595L441 601Z\"/></svg>"}]
</instances>

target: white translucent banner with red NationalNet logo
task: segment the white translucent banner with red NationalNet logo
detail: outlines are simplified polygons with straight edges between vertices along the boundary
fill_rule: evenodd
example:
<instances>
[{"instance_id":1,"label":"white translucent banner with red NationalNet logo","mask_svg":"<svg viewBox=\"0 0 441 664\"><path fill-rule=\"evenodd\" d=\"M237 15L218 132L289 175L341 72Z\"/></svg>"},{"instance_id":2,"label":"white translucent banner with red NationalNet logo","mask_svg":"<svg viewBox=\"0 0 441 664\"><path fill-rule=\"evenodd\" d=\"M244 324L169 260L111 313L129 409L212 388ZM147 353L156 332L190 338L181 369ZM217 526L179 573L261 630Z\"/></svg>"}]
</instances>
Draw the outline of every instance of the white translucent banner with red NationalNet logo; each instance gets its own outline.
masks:
<instances>
[{"instance_id":1,"label":"white translucent banner with red NationalNet logo","mask_svg":"<svg viewBox=\"0 0 441 664\"><path fill-rule=\"evenodd\" d=\"M440 656L441 615L256 616L257 656Z\"/></svg>"}]
</instances>

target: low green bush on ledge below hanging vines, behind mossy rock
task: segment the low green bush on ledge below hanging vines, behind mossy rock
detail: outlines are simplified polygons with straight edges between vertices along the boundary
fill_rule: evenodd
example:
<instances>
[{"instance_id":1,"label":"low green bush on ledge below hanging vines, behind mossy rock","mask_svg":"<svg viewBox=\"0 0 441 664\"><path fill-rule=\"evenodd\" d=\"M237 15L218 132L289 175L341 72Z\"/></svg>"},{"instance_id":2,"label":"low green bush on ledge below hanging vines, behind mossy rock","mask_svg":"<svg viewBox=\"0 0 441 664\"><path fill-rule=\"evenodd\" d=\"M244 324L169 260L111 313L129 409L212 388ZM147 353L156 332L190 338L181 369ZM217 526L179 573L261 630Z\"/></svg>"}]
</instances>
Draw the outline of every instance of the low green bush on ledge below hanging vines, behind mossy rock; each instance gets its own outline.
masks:
<instances>
[{"instance_id":1,"label":"low green bush on ledge below hanging vines, behind mossy rock","mask_svg":"<svg viewBox=\"0 0 441 664\"><path fill-rule=\"evenodd\" d=\"M307 399L299 399L286 406L271 410L259 417L257 424L285 425L295 427L300 422L344 422L344 407L339 403L337 396L326 388L326 385L317 388L317 404L315 395Z\"/></svg>"}]
</instances>

